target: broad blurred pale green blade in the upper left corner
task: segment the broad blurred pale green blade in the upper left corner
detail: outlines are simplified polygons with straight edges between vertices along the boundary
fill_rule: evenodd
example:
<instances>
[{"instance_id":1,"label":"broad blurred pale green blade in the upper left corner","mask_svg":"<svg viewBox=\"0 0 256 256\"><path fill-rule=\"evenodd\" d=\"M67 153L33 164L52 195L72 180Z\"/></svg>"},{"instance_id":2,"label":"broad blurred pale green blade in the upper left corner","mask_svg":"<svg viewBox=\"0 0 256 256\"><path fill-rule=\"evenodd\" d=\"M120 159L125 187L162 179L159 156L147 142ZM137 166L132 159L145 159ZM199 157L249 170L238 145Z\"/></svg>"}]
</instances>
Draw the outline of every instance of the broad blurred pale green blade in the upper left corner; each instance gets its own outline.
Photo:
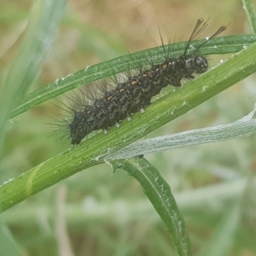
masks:
<instances>
[{"instance_id":1,"label":"broad blurred pale green blade in the upper left corner","mask_svg":"<svg viewBox=\"0 0 256 256\"><path fill-rule=\"evenodd\" d=\"M28 22L28 31L12 61L0 93L0 141L9 109L28 92L40 72L42 62L51 49L65 7L65 0L35 1Z\"/></svg>"}]
</instances>

